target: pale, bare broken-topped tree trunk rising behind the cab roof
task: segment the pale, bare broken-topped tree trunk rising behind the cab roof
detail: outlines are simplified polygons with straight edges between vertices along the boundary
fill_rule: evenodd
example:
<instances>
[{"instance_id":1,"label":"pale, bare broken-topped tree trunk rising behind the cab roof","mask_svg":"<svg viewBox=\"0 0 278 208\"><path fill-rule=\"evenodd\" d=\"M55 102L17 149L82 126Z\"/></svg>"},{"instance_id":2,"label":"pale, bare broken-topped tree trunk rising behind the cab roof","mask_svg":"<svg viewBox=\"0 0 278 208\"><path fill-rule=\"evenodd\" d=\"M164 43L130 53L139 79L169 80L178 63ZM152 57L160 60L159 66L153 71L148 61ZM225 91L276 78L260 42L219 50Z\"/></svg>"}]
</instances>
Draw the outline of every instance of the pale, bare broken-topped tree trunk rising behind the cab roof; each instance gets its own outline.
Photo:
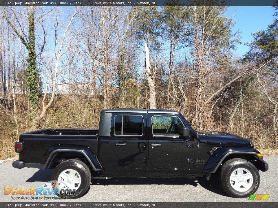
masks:
<instances>
[{"instance_id":1,"label":"pale, bare broken-topped tree trunk rising behind the cab roof","mask_svg":"<svg viewBox=\"0 0 278 208\"><path fill-rule=\"evenodd\" d=\"M155 87L154 87L154 83L153 83L153 77L151 74L150 51L149 51L149 45L147 42L145 42L145 54L146 54L145 74L147 76L147 80L149 83L149 92L150 92L149 103L150 103L151 109L156 109L156 91L155 91Z\"/></svg>"}]
</instances>

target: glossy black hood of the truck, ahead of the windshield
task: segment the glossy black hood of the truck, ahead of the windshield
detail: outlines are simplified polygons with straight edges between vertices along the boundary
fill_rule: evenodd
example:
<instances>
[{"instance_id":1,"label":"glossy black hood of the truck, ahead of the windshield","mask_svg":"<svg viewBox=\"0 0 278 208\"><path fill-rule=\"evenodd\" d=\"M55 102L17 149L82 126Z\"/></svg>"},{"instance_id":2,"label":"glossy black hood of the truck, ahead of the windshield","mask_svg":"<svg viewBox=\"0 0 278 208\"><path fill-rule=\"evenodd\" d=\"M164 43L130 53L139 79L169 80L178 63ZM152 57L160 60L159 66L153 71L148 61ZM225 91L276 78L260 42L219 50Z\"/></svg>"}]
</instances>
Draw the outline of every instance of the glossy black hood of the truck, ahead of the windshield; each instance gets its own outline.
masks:
<instances>
[{"instance_id":1,"label":"glossy black hood of the truck, ahead of the windshield","mask_svg":"<svg viewBox=\"0 0 278 208\"><path fill-rule=\"evenodd\" d=\"M242 138L237 135L225 133L225 132L205 131L202 132L202 134L206 135L209 144L218 144L221 146L228 145L228 146L237 146L237 147L249 147L249 148L253 146L251 140Z\"/></svg>"}]
</instances>

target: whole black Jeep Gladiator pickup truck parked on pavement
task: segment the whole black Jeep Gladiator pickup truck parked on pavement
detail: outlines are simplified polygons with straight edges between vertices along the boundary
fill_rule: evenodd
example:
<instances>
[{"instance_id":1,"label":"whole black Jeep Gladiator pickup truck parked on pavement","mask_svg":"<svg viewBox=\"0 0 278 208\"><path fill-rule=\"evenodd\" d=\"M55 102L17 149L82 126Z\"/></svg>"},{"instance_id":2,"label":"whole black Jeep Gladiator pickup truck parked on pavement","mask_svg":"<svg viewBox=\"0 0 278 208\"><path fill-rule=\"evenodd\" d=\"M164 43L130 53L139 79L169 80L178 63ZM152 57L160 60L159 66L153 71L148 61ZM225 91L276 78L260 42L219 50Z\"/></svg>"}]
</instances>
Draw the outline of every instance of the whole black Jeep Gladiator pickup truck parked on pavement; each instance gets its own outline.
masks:
<instances>
[{"instance_id":1,"label":"whole black Jeep Gladiator pickup truck parked on pavement","mask_svg":"<svg viewBox=\"0 0 278 208\"><path fill-rule=\"evenodd\" d=\"M72 198L81 197L92 177L206 177L219 173L222 189L247 197L267 171L253 143L222 132L192 129L179 112L106 109L99 129L43 129L15 143L14 168L52 168Z\"/></svg>"}]
</instances>

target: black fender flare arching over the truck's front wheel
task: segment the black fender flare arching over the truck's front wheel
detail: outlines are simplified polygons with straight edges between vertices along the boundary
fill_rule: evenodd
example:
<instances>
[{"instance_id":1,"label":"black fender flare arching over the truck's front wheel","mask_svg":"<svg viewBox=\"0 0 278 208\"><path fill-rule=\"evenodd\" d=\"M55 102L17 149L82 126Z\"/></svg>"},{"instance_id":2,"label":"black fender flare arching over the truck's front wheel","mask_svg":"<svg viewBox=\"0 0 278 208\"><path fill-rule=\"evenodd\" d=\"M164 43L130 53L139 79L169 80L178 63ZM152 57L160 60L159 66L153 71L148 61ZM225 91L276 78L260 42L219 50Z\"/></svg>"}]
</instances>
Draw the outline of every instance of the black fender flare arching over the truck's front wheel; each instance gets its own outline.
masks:
<instances>
[{"instance_id":1,"label":"black fender flare arching over the truck's front wheel","mask_svg":"<svg viewBox=\"0 0 278 208\"><path fill-rule=\"evenodd\" d=\"M206 172L206 173L215 173L217 168L222 163L222 161L228 155L231 155L231 154L244 154L244 155L248 154L248 155L252 155L252 156L256 157L260 161L263 161L262 160L263 157L259 157L257 155L257 153L259 153L259 151L257 151L256 149L247 149L247 148L218 148L217 150L215 150L213 155L211 155L211 157L207 161L206 165L204 166L203 171ZM268 168L268 166L267 166L267 168ZM266 167L262 168L262 169L266 169Z\"/></svg>"}]
</instances>

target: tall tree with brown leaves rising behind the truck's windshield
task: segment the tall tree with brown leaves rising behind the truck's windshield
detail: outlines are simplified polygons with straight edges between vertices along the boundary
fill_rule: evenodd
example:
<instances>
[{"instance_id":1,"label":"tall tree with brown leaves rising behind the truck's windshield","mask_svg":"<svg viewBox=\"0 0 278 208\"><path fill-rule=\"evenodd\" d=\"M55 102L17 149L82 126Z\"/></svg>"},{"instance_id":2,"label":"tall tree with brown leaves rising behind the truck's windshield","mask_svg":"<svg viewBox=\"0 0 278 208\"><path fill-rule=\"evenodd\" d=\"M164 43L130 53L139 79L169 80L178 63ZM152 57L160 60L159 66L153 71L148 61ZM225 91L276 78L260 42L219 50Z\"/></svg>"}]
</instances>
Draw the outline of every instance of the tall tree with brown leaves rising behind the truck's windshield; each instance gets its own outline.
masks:
<instances>
[{"instance_id":1,"label":"tall tree with brown leaves rising behind the truck's windshield","mask_svg":"<svg viewBox=\"0 0 278 208\"><path fill-rule=\"evenodd\" d=\"M186 11L189 18L183 23L192 31L189 42L192 44L193 67L197 72L194 123L199 129L204 129L210 123L210 107L207 104L213 98L204 94L205 77L227 64L226 53L236 39L231 38L229 28L233 21L224 17L225 7L188 7Z\"/></svg>"}]
</instances>

